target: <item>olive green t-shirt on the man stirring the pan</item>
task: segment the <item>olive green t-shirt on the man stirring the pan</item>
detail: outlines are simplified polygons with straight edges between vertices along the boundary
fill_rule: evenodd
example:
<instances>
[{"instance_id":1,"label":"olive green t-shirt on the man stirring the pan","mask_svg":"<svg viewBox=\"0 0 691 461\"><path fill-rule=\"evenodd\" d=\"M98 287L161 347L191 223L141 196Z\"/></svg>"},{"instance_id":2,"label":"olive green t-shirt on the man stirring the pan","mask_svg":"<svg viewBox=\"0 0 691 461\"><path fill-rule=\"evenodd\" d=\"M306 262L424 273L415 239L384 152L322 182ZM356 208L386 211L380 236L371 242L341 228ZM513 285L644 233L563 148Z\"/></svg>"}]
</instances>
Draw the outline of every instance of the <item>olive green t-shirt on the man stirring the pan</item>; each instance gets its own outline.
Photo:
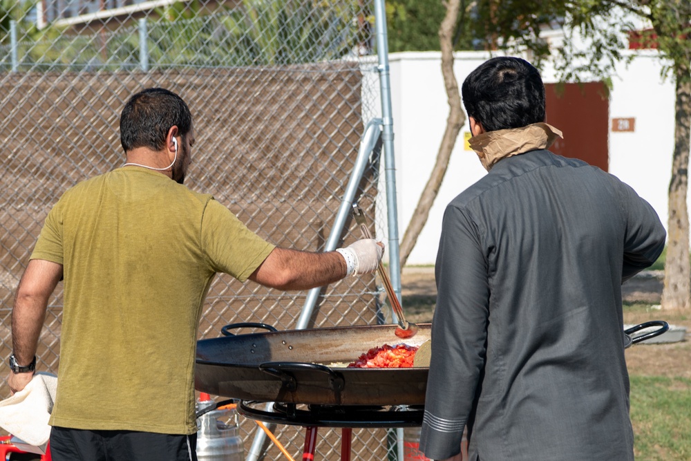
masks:
<instances>
[{"instance_id":1,"label":"olive green t-shirt on the man stirring the pan","mask_svg":"<svg viewBox=\"0 0 691 461\"><path fill-rule=\"evenodd\" d=\"M245 281L273 249L210 195L148 169L66 191L31 255L64 265L50 424L196 432L196 335L211 280Z\"/></svg>"}]
</instances>

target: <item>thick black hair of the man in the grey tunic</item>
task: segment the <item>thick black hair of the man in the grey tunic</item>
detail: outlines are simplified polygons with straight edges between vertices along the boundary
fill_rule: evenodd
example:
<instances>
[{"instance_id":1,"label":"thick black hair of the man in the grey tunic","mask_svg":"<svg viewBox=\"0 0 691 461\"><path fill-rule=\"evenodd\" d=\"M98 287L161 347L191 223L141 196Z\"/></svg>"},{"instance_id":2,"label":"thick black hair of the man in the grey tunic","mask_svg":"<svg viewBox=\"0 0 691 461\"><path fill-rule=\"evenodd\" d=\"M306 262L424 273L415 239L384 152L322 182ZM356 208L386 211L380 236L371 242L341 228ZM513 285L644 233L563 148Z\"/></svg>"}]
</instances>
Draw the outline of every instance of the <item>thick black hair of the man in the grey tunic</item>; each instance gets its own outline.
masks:
<instances>
[{"instance_id":1,"label":"thick black hair of the man in the grey tunic","mask_svg":"<svg viewBox=\"0 0 691 461\"><path fill-rule=\"evenodd\" d=\"M525 59L489 59L466 77L461 93L468 117L485 131L545 122L545 85Z\"/></svg>"}]
</instances>

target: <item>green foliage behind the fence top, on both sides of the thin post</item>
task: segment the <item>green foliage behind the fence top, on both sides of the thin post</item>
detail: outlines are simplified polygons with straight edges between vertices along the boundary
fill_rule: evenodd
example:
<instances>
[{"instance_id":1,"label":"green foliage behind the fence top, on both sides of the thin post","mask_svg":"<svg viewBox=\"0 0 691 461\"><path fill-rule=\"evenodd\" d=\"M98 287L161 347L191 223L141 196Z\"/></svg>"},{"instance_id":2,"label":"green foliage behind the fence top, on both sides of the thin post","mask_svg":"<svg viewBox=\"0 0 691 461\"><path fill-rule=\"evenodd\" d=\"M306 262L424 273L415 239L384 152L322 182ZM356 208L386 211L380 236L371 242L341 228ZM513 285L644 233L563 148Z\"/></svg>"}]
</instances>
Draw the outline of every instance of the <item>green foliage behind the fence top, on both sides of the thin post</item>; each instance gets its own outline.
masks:
<instances>
[{"instance_id":1,"label":"green foliage behind the fence top, on both sides of the thin post","mask_svg":"<svg viewBox=\"0 0 691 461\"><path fill-rule=\"evenodd\" d=\"M17 6L16 0L0 0L0 8L6 3ZM358 0L243 0L240 7L209 13L200 0L172 3L155 10L158 20L147 20L149 66L287 65L339 59L357 51L365 40L369 24L359 8ZM20 15L12 11L13 17ZM22 27L20 70L140 66L137 23L115 32L102 30L97 36L66 35L55 26L40 31L30 23Z\"/></svg>"}]
</instances>

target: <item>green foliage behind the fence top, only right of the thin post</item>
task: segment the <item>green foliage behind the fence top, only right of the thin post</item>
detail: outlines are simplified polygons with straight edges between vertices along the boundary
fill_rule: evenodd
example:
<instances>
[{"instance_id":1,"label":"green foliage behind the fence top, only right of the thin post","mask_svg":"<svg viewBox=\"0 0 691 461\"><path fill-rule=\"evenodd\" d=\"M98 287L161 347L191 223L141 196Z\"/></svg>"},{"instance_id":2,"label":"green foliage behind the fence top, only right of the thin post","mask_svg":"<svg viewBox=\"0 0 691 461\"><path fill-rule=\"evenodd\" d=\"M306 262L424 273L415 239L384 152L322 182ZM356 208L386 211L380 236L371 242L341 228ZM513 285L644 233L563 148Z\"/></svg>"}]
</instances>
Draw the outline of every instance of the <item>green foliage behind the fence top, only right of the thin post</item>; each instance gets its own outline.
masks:
<instances>
[{"instance_id":1,"label":"green foliage behind the fence top, only right of the thin post","mask_svg":"<svg viewBox=\"0 0 691 461\"><path fill-rule=\"evenodd\" d=\"M242 8L206 16L170 7L162 14L164 21L149 30L150 59L159 66L337 59L361 40L356 7L354 0L243 0Z\"/></svg>"}]
</instances>

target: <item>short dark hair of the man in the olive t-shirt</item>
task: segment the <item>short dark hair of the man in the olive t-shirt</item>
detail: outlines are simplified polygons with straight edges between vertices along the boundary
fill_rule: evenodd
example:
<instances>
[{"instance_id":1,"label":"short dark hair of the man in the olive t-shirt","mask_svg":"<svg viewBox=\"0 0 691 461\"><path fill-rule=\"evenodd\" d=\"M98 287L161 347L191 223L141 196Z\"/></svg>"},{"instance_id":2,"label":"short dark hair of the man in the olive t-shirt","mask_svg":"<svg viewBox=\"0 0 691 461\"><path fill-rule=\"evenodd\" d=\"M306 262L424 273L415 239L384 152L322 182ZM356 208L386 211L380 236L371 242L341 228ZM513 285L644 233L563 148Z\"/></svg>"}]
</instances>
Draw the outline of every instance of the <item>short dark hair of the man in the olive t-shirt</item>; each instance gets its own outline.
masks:
<instances>
[{"instance_id":1,"label":"short dark hair of the man in the olive t-shirt","mask_svg":"<svg viewBox=\"0 0 691 461\"><path fill-rule=\"evenodd\" d=\"M192 115L182 98L164 88L148 88L133 95L120 114L120 144L125 152L136 147L163 149L171 126L187 135Z\"/></svg>"}]
</instances>

